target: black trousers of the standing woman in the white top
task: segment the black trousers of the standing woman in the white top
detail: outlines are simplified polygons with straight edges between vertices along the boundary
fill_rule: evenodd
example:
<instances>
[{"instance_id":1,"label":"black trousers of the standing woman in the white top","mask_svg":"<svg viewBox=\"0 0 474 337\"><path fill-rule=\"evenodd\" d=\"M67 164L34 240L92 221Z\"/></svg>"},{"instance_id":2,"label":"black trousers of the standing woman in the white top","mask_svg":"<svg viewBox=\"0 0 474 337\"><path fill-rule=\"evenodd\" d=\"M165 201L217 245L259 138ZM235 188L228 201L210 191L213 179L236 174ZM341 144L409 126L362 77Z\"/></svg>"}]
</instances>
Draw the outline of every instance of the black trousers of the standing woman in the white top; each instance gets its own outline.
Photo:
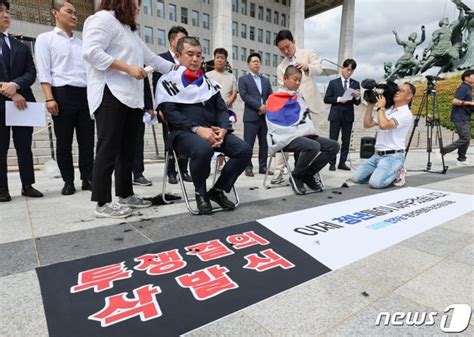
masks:
<instances>
[{"instance_id":1,"label":"black trousers of the standing woman in the white top","mask_svg":"<svg viewBox=\"0 0 474 337\"><path fill-rule=\"evenodd\" d=\"M112 201L112 172L115 195L133 195L132 162L142 109L132 109L115 98L106 86L102 103L95 112L97 149L92 175L92 201Z\"/></svg>"}]
</instances>

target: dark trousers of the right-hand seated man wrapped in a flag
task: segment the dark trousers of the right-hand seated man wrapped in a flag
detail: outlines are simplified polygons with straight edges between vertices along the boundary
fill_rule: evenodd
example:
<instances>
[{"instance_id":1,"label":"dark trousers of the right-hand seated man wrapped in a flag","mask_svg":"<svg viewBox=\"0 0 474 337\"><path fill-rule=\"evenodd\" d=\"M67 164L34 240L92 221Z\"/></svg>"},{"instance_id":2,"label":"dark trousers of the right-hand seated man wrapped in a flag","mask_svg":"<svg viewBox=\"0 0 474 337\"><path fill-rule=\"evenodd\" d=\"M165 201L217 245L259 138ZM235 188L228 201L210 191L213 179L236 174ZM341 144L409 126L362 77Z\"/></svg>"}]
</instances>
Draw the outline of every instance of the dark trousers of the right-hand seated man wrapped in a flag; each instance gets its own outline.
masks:
<instances>
[{"instance_id":1,"label":"dark trousers of the right-hand seated man wrapped in a flag","mask_svg":"<svg viewBox=\"0 0 474 337\"><path fill-rule=\"evenodd\" d=\"M293 175L304 177L321 171L339 152L339 143L313 135L293 139L284 150L295 153L296 164Z\"/></svg>"}]
</instances>

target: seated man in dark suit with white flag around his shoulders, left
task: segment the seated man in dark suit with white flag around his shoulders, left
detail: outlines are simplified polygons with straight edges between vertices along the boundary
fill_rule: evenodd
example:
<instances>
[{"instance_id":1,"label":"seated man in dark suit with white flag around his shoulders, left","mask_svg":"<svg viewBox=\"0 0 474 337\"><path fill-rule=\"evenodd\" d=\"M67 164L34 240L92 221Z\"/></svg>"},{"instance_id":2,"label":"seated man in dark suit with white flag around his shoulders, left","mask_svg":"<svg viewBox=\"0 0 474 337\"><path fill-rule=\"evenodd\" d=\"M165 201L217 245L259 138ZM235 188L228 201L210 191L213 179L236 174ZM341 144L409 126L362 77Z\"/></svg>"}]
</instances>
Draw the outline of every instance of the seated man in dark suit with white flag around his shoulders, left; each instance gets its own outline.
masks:
<instances>
[{"instance_id":1,"label":"seated man in dark suit with white flag around his shoulders, left","mask_svg":"<svg viewBox=\"0 0 474 337\"><path fill-rule=\"evenodd\" d=\"M223 191L230 192L252 156L250 146L232 134L227 106L219 93L219 84L201 71L201 45L194 37L183 37L176 56L177 71L163 75L156 87L156 104L170 128L170 142L176 152L190 158L190 171L200 214L209 214L215 201L222 208L235 208ZM209 192L206 179L214 151L230 159Z\"/></svg>"}]
</instances>

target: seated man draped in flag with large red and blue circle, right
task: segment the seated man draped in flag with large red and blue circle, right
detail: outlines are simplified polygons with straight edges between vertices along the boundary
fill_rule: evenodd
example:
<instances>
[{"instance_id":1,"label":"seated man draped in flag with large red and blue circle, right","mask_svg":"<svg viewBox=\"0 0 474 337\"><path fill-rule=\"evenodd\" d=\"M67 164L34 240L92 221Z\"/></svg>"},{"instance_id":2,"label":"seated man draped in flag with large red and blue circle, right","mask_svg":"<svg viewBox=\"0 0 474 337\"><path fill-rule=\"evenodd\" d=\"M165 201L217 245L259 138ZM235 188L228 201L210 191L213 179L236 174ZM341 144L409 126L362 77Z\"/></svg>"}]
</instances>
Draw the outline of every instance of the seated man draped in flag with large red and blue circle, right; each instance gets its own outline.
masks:
<instances>
[{"instance_id":1,"label":"seated man draped in flag with large red and blue circle, right","mask_svg":"<svg viewBox=\"0 0 474 337\"><path fill-rule=\"evenodd\" d=\"M267 101L268 146L275 153L283 149L297 158L292 176L295 192L304 194L306 184L314 191L323 188L314 175L338 153L337 141L316 135L310 111L297 90L303 74L293 65L286 68L283 87ZM298 154L298 156L296 156Z\"/></svg>"}]
</instances>

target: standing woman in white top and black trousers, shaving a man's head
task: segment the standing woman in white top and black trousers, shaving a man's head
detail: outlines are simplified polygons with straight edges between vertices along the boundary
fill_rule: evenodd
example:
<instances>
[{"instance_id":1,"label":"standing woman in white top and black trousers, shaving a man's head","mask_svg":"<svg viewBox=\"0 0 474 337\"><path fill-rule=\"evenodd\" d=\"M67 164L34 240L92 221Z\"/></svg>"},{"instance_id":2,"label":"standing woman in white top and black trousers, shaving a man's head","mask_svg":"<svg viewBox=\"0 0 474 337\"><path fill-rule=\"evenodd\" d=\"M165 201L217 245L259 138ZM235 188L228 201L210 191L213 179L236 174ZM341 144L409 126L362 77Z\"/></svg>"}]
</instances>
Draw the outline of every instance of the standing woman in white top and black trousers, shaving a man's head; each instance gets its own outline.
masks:
<instances>
[{"instance_id":1,"label":"standing woman in white top and black trousers, shaving a man's head","mask_svg":"<svg viewBox=\"0 0 474 337\"><path fill-rule=\"evenodd\" d=\"M140 39L135 22L138 0L102 0L87 18L83 31L83 56L87 71L87 98L97 125L92 201L98 217L127 217L131 208L150 202L136 197L132 187L132 162L138 123L143 116L143 65L168 73L171 62L157 56ZM112 203L112 172L115 195Z\"/></svg>"}]
</instances>

